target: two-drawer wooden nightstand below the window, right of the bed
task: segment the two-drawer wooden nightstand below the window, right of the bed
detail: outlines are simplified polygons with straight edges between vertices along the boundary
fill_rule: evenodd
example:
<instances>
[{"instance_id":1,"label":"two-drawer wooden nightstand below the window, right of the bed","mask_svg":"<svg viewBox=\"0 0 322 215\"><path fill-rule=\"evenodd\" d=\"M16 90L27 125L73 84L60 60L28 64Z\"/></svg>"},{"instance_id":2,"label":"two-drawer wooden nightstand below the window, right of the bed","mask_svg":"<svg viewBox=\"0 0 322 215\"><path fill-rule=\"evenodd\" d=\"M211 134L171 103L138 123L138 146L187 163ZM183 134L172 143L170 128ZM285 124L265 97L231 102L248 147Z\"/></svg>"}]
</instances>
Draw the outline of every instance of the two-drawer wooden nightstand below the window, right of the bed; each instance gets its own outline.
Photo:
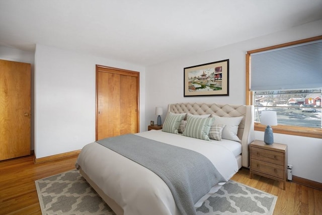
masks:
<instances>
[{"instance_id":1,"label":"two-drawer wooden nightstand below the window, right of the bed","mask_svg":"<svg viewBox=\"0 0 322 215\"><path fill-rule=\"evenodd\" d=\"M287 180L287 145L266 145L264 141L254 140L250 144L250 178L253 174L265 176L283 182Z\"/></svg>"}]
</instances>

